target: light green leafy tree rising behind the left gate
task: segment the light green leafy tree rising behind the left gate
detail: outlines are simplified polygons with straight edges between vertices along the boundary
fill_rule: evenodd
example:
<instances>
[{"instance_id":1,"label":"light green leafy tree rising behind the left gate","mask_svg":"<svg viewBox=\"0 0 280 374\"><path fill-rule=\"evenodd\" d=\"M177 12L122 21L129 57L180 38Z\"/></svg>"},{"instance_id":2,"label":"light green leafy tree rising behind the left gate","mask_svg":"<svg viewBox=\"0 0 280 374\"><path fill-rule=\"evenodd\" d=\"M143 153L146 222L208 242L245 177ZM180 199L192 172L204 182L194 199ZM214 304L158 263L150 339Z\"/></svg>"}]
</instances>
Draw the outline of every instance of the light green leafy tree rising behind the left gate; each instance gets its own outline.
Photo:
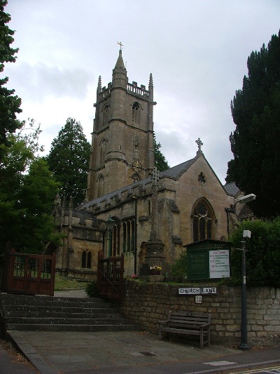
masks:
<instances>
[{"instance_id":1,"label":"light green leafy tree rising behind the left gate","mask_svg":"<svg viewBox=\"0 0 280 374\"><path fill-rule=\"evenodd\" d=\"M9 146L2 145L0 161L0 252L12 241L17 251L40 253L45 242L59 243L55 221L51 216L52 201L59 184L48 165L38 156L40 127L25 133L21 130L8 135Z\"/></svg>"}]
</instances>

